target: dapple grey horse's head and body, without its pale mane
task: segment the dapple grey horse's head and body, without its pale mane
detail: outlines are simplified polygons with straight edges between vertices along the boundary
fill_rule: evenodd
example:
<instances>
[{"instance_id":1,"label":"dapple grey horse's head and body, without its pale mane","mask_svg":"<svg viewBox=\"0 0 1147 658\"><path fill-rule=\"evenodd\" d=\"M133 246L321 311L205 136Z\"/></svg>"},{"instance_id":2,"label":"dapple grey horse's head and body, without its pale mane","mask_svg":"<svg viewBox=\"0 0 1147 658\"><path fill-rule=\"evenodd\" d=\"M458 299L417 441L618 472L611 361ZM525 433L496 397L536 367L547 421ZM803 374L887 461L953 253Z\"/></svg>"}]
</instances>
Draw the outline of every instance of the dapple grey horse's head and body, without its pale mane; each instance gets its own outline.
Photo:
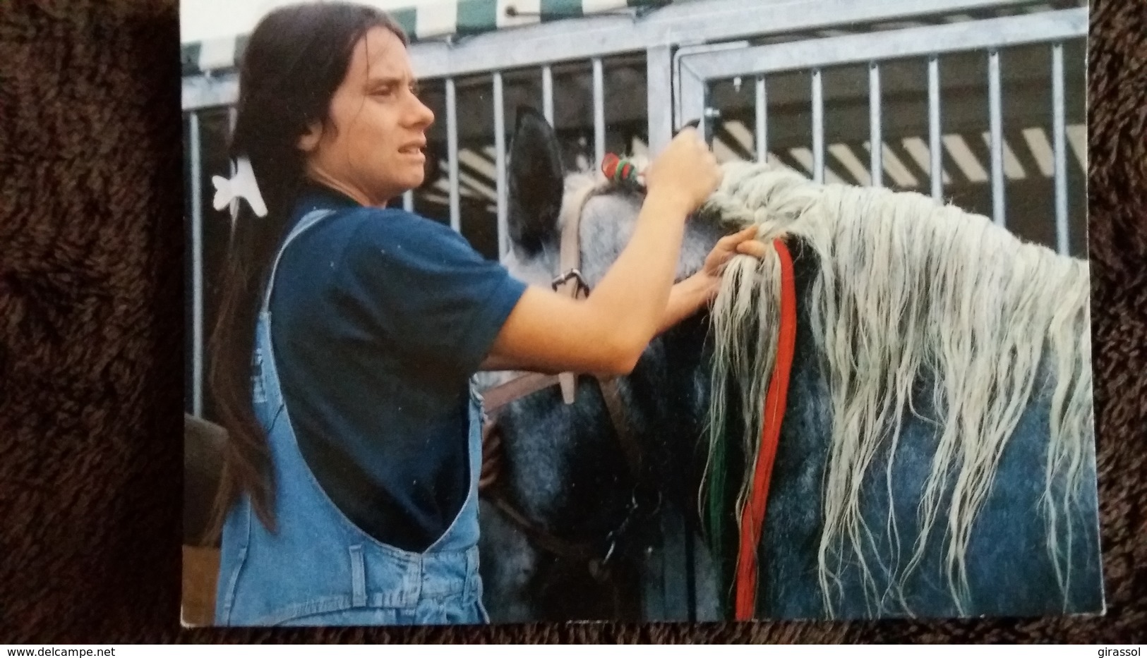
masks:
<instances>
[{"instance_id":1,"label":"dapple grey horse's head and body, without its pale mane","mask_svg":"<svg viewBox=\"0 0 1147 658\"><path fill-rule=\"evenodd\" d=\"M531 109L520 109L509 157L508 226L513 249L504 264L516 276L538 284L559 273L560 213L563 197L587 185L570 173L553 130ZM638 216L642 193L616 187L590 198L580 217L582 274L591 289L624 248ZM723 218L700 213L687 225L678 275L695 272L724 234ZM888 574L861 573L844 556L836 573L830 609L818 580L818 546L824 530L824 480L830 453L830 392L817 351L807 304L818 267L812 250L790 244L797 298L797 332L787 410L768 493L767 516L758 546L756 617L762 619L841 619L872 617L1041 616L1103 610L1097 520L1094 446L1084 460L1080 495L1069 511L1071 577L1061 586L1048 555L1039 515L1044 494L1051 385L1046 368L1033 401L1023 410L998 463L994 484L978 512L967 548L970 597L958 605L944 575L941 524L931 528L920 567L899 583L896 602L873 601L871 592L892 589ZM633 373L618 381L626 431L642 453L638 472L627 468L618 430L610 421L596 382L578 379L578 397L565 405L556 386L507 404L497 412L501 437L498 487L525 523L569 542L586 542L610 555L612 589L599 586L585 564L547 550L521 523L489 502L483 518L483 574L486 602L496 620L640 617L643 583L661 578L643 559L660 541L656 515L684 514L686 533L701 527L697 492L705 468L703 434L709 408L713 358L705 312L656 337ZM492 386L507 374L487 374ZM924 377L923 379L926 379ZM916 507L936 449L930 382L914 384L914 408L899 436L902 448L889 471L895 503L891 515L900 538L920 532ZM735 418L732 412L728 417ZM729 428L739 436L740 428ZM743 456L731 441L734 462ZM887 460L877 454L877 460ZM883 468L874 471L884 472ZM736 479L736 478L731 478ZM735 493L735 492L733 492ZM732 494L731 494L732 495ZM888 522L883 481L863 483L863 516L869 526ZM943 502L942 502L943 507ZM731 523L735 530L735 524ZM619 532L619 528L623 532ZM935 538L933 536L935 535ZM728 539L728 538L726 538ZM595 542L595 543L594 543ZM692 543L689 545L692 546ZM864 553L871 564L887 562L894 550L875 533ZM701 551L690 572L689 592L703 617L728 618L729 556ZM584 562L584 561L583 561ZM665 565L662 565L664 567ZM676 566L685 570L685 565ZM674 566L670 565L670 569ZM725 574L719 578L718 574ZM875 582L867 581L874 578ZM875 586L875 587L873 587ZM618 606L614 595L627 593ZM715 603L716 601L716 603ZM895 603L895 604L892 604Z\"/></svg>"}]
</instances>

